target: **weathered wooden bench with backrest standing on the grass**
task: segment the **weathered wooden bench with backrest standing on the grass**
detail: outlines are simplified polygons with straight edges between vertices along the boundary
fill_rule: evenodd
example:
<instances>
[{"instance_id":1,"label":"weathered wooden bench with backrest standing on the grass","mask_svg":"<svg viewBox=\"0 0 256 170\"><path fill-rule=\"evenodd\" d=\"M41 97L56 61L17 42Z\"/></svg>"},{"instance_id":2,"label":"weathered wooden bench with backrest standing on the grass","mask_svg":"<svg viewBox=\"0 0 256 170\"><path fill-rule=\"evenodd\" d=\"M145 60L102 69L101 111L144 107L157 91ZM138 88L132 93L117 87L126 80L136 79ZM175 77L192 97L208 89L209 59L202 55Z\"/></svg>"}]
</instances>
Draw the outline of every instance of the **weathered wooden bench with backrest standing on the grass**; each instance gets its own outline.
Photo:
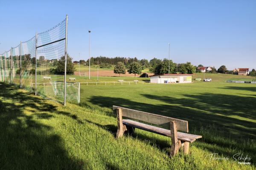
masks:
<instances>
[{"instance_id":1,"label":"weathered wooden bench with backrest standing on the grass","mask_svg":"<svg viewBox=\"0 0 256 170\"><path fill-rule=\"evenodd\" d=\"M198 138L202 138L201 135L188 134L188 121L118 106L113 106L113 112L117 115L118 130L116 137L121 137L125 131L128 131L129 135L133 135L135 128L168 136L172 141L171 156L177 154L180 148L185 154L189 153L189 143L194 142ZM163 128L134 120L123 119L123 117L158 125ZM177 132L177 130L186 133Z\"/></svg>"}]
</instances>

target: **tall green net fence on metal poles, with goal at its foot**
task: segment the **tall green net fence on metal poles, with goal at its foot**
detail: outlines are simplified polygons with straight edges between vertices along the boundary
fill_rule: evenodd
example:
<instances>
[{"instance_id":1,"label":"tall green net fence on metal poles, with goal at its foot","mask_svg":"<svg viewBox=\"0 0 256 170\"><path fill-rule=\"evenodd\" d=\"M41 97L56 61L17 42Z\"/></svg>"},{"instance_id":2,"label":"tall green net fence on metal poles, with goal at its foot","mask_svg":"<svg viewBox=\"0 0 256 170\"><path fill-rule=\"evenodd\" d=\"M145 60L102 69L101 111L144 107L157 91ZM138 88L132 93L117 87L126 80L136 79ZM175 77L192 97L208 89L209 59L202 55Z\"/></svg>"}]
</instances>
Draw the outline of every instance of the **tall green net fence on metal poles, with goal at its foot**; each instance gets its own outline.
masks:
<instances>
[{"instance_id":1,"label":"tall green net fence on metal poles, with goal at its foot","mask_svg":"<svg viewBox=\"0 0 256 170\"><path fill-rule=\"evenodd\" d=\"M51 29L36 32L34 37L0 54L0 81L64 105L66 101L79 103L80 84L66 81L67 23L66 15Z\"/></svg>"}]
</instances>

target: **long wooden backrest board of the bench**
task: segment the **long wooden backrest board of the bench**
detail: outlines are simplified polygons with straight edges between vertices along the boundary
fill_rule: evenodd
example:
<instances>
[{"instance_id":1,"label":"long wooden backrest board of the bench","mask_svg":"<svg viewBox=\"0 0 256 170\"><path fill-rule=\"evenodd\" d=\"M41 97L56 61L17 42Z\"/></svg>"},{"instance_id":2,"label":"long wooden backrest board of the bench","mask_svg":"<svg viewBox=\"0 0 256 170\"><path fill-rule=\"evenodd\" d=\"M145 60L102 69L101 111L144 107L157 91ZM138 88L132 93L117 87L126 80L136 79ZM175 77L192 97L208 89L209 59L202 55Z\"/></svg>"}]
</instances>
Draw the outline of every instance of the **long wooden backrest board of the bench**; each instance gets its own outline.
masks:
<instances>
[{"instance_id":1,"label":"long wooden backrest board of the bench","mask_svg":"<svg viewBox=\"0 0 256 170\"><path fill-rule=\"evenodd\" d=\"M118 106L113 106L114 113L116 113L117 108L122 109L122 116L124 117L136 119L138 121L145 121L151 124L156 124L167 129L170 129L170 121L175 121L177 130L189 132L188 121Z\"/></svg>"}]
</instances>

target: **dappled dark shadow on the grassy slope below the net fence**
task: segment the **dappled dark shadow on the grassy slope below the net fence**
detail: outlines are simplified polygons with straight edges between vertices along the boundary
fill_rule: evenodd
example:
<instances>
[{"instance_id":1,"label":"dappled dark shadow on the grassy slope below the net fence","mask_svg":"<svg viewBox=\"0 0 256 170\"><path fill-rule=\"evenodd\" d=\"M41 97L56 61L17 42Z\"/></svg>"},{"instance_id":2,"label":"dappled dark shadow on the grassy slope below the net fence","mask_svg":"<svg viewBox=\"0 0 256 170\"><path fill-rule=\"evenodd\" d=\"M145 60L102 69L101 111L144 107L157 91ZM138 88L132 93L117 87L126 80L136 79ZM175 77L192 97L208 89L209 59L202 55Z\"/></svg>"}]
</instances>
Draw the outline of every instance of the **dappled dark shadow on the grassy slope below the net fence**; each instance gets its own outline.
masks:
<instances>
[{"instance_id":1,"label":"dappled dark shadow on the grassy slope below the net fence","mask_svg":"<svg viewBox=\"0 0 256 170\"><path fill-rule=\"evenodd\" d=\"M52 118L52 114L45 112L58 113L56 107L16 90L15 86L0 86L0 167L81 169L84 163L68 156L61 137L51 133L52 127L36 121ZM31 114L24 113L28 111ZM35 111L37 113L33 113Z\"/></svg>"}]
</instances>

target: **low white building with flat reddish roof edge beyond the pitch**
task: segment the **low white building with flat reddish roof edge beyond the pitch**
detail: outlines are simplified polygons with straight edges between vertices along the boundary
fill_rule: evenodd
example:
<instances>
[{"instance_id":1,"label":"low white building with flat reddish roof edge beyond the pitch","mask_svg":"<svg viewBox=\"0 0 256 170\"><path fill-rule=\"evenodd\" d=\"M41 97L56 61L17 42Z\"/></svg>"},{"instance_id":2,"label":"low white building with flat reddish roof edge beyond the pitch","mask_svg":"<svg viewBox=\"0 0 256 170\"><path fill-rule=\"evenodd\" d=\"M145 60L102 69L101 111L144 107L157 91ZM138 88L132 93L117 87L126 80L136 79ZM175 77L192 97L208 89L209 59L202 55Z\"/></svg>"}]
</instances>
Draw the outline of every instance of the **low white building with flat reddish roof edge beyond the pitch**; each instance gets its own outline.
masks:
<instances>
[{"instance_id":1,"label":"low white building with flat reddish roof edge beyond the pitch","mask_svg":"<svg viewBox=\"0 0 256 170\"><path fill-rule=\"evenodd\" d=\"M150 83L192 83L192 74L151 75Z\"/></svg>"}]
</instances>

